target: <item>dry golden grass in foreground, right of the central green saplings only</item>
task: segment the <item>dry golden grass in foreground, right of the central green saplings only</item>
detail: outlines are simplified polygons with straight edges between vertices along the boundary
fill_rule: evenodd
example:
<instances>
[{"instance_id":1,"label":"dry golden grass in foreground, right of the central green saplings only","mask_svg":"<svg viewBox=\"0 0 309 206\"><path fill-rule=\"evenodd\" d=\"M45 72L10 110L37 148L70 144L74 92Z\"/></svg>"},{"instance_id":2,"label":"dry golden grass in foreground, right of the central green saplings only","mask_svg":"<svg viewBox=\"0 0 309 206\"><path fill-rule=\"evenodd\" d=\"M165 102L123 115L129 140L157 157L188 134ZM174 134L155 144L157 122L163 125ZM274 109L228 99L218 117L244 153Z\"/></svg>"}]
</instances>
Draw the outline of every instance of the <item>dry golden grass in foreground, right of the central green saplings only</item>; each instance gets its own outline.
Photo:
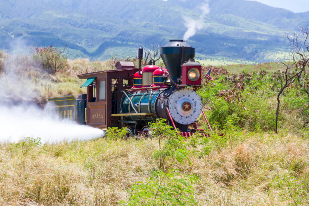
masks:
<instances>
[{"instance_id":1,"label":"dry golden grass in foreground, right of the central green saplings only","mask_svg":"<svg viewBox=\"0 0 309 206\"><path fill-rule=\"evenodd\" d=\"M213 202L216 197L216 204L284 204L270 183L291 168L297 175L306 174L308 152L308 142L294 135L254 134L205 158L205 186L198 198ZM302 166L296 169L296 162Z\"/></svg>"}]
</instances>

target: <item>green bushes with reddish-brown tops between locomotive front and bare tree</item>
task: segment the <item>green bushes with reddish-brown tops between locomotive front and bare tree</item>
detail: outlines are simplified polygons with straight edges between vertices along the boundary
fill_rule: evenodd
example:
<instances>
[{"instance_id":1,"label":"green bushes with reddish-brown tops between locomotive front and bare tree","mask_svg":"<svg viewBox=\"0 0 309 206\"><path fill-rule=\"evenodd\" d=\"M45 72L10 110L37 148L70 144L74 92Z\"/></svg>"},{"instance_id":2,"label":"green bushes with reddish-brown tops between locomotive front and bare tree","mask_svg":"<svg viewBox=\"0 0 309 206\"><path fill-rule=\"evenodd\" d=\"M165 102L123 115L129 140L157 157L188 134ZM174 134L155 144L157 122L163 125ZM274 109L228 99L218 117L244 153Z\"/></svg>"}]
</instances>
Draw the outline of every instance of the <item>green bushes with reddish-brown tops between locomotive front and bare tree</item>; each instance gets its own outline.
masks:
<instances>
[{"instance_id":1,"label":"green bushes with reddish-brown tops between locomotive front and bare tree","mask_svg":"<svg viewBox=\"0 0 309 206\"><path fill-rule=\"evenodd\" d=\"M229 125L249 131L272 131L275 129L276 111L270 98L276 95L276 75L265 69L253 73L222 74L214 85L199 91L208 104L211 124L223 129ZM280 120L284 121L281 115Z\"/></svg>"}]
</instances>

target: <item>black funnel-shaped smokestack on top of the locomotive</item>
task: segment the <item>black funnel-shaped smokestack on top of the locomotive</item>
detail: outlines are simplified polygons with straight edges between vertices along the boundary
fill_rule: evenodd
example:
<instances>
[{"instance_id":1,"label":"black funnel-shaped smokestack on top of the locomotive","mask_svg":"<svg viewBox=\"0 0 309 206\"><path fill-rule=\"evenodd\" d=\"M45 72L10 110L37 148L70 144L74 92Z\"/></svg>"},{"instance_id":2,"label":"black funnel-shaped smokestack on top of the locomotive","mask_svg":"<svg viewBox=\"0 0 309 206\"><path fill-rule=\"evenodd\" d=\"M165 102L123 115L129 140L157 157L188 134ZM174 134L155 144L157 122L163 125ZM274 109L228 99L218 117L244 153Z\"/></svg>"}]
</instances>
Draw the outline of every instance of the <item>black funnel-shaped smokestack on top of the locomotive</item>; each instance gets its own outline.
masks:
<instances>
[{"instance_id":1,"label":"black funnel-shaped smokestack on top of the locomotive","mask_svg":"<svg viewBox=\"0 0 309 206\"><path fill-rule=\"evenodd\" d=\"M180 66L184 61L194 59L195 48L184 40L170 40L164 47L161 47L161 57L171 79L177 83L177 79L181 77Z\"/></svg>"}]
</instances>

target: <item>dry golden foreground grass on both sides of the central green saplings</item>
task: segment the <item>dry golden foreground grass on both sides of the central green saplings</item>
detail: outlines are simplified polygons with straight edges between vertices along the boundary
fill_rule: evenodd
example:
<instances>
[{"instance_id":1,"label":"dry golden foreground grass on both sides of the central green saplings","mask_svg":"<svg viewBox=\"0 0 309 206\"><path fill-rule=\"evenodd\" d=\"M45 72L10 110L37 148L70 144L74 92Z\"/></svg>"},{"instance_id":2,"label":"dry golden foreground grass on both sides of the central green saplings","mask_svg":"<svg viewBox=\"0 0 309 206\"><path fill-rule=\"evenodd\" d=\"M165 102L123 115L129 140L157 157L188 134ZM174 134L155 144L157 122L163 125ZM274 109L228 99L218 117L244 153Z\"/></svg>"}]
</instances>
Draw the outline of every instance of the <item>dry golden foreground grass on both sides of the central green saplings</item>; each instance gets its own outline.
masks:
<instances>
[{"instance_id":1,"label":"dry golden foreground grass on both sides of the central green saplings","mask_svg":"<svg viewBox=\"0 0 309 206\"><path fill-rule=\"evenodd\" d=\"M175 164L195 174L199 205L282 205L278 175L308 173L308 141L293 134L256 133L235 137L192 165ZM150 178L157 163L151 158L157 140L63 142L31 150L27 156L0 149L0 203L15 205L111 205L127 200L128 189ZM269 196L268 196L269 195Z\"/></svg>"}]
</instances>

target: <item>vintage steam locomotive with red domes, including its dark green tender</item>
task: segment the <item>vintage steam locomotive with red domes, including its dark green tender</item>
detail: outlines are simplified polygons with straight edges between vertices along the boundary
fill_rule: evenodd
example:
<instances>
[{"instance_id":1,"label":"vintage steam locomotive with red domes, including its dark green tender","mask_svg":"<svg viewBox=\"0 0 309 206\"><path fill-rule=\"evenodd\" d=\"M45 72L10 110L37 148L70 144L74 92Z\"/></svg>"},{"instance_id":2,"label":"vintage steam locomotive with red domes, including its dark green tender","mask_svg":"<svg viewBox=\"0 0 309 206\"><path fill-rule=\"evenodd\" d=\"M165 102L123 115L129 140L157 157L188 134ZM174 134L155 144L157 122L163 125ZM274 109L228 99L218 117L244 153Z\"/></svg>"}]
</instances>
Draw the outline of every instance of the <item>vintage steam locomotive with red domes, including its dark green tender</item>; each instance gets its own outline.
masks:
<instances>
[{"instance_id":1,"label":"vintage steam locomotive with red domes, including its dark green tender","mask_svg":"<svg viewBox=\"0 0 309 206\"><path fill-rule=\"evenodd\" d=\"M166 68L147 65L141 69L141 47L139 68L133 62L117 62L115 70L78 75L86 80L81 87L87 87L87 94L78 99L72 95L49 98L49 104L61 119L102 130L127 127L131 135L147 135L148 125L164 118L189 137L197 131L200 114L205 117L196 93L202 86L201 65L194 61L195 48L184 40L170 40L161 47L161 57Z\"/></svg>"}]
</instances>

